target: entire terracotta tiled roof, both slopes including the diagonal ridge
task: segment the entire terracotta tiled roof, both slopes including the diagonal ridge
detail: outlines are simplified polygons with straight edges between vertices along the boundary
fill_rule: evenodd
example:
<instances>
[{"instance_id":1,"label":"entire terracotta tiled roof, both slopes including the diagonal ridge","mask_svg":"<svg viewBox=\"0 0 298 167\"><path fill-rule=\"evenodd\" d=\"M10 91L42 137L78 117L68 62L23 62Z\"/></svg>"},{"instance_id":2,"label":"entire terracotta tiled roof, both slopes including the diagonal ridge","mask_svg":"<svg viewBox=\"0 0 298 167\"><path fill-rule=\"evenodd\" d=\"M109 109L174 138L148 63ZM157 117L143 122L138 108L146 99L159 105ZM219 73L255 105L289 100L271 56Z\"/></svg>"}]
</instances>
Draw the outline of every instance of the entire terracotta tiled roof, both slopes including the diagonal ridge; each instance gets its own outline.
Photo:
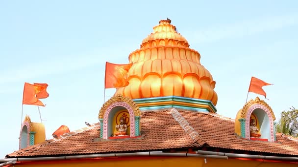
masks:
<instances>
[{"instance_id":1,"label":"entire terracotta tiled roof, both slopes including the diagonal ridge","mask_svg":"<svg viewBox=\"0 0 298 167\"><path fill-rule=\"evenodd\" d=\"M277 142L251 141L234 133L234 120L218 114L169 108L144 111L141 118L141 137L134 139L99 139L95 124L63 135L59 139L15 151L6 157L59 156L108 152L164 150L208 146L231 150L298 156L298 141L276 134Z\"/></svg>"}]
</instances>

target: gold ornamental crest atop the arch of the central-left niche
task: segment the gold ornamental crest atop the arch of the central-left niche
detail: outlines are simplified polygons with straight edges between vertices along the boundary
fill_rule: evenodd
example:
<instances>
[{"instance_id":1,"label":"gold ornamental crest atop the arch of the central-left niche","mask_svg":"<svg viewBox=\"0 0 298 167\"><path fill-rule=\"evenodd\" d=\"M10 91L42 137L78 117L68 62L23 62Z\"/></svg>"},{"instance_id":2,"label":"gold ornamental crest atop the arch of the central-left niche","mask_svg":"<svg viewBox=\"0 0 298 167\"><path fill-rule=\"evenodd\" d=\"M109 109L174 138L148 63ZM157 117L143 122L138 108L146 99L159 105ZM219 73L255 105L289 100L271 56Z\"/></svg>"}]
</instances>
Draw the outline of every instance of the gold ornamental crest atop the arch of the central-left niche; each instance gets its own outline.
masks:
<instances>
[{"instance_id":1,"label":"gold ornamental crest atop the arch of the central-left niche","mask_svg":"<svg viewBox=\"0 0 298 167\"><path fill-rule=\"evenodd\" d=\"M129 97L124 97L122 94L117 94L113 97L111 97L108 101L106 101L102 107L99 110L99 119L103 118L103 114L105 112L105 110L108 108L109 105L115 103L115 102L125 102L128 105L131 106L131 108L134 111L135 116L140 116L141 115L141 111L140 108L138 107L138 105Z\"/></svg>"}]
</instances>

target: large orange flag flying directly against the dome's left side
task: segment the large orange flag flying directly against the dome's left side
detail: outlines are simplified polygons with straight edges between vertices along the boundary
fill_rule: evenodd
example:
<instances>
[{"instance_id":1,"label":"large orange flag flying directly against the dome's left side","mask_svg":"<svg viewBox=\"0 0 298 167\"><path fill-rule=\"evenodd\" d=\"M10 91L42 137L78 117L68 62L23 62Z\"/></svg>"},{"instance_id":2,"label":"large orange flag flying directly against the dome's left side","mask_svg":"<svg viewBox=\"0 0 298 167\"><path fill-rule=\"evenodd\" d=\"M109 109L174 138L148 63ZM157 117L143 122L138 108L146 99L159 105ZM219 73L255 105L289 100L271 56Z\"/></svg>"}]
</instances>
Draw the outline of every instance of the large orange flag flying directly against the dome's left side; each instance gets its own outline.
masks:
<instances>
[{"instance_id":1,"label":"large orange flag flying directly against the dome's left side","mask_svg":"<svg viewBox=\"0 0 298 167\"><path fill-rule=\"evenodd\" d=\"M130 64L105 63L104 88L124 87L129 84L126 74L131 67Z\"/></svg>"}]
</instances>

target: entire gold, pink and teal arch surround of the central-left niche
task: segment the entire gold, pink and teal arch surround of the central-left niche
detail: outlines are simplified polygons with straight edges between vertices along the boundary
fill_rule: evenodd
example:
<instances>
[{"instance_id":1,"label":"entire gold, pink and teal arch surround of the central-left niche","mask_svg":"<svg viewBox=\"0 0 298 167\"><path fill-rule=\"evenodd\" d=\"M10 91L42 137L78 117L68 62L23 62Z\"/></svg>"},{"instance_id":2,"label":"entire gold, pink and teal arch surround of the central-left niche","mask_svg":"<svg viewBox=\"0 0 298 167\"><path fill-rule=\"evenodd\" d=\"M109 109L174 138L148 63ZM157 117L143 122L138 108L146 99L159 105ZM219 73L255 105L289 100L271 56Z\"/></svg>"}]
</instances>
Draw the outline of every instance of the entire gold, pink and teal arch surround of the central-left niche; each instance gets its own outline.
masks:
<instances>
[{"instance_id":1,"label":"entire gold, pink and teal arch surround of the central-left niche","mask_svg":"<svg viewBox=\"0 0 298 167\"><path fill-rule=\"evenodd\" d=\"M112 124L109 119L112 119L113 117L111 115L121 109L127 110L129 114L129 137L139 136L141 111L132 99L124 97L122 94L118 94L105 102L99 110L100 138L109 139L109 133L112 128Z\"/></svg>"}]
</instances>

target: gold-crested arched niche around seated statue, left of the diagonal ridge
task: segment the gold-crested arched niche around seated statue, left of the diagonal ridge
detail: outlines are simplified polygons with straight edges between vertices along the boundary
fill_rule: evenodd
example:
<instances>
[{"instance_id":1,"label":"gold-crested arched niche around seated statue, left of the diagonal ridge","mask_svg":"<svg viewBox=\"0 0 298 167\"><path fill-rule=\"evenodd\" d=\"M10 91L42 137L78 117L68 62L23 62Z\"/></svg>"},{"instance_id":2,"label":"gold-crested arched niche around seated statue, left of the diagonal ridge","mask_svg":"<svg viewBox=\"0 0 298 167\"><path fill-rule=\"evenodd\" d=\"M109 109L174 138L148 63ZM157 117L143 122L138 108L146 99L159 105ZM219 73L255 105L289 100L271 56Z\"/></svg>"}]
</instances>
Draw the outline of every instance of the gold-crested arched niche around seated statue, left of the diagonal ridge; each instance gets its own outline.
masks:
<instances>
[{"instance_id":1,"label":"gold-crested arched niche around seated statue, left of the diagonal ridge","mask_svg":"<svg viewBox=\"0 0 298 167\"><path fill-rule=\"evenodd\" d=\"M124 114L124 115L119 115ZM99 110L100 138L114 139L120 137L136 137L140 135L141 111L132 99L119 94L109 99ZM124 117L126 134L116 134L115 126ZM119 127L119 126L118 126ZM121 132L117 130L117 132Z\"/></svg>"}]
</instances>

